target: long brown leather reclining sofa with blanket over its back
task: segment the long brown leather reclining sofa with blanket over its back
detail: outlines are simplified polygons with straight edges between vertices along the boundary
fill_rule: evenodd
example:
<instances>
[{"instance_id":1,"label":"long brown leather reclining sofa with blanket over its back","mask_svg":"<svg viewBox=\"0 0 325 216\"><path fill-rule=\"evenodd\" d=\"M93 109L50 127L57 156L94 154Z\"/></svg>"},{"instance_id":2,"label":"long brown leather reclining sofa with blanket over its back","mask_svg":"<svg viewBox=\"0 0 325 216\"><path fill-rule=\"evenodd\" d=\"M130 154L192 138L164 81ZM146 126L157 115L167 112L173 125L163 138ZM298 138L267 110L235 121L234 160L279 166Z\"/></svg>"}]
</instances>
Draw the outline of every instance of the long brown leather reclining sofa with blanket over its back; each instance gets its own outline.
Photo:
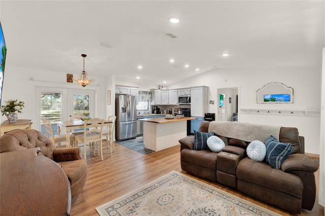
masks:
<instances>
[{"instance_id":1,"label":"long brown leather reclining sofa with blanket over its back","mask_svg":"<svg viewBox=\"0 0 325 216\"><path fill-rule=\"evenodd\" d=\"M216 121L204 121L199 131L211 132L216 124ZM246 123L239 122L226 124L229 134L236 134L234 130L237 126L246 126ZM248 124L252 134L266 129L264 125ZM273 168L265 160L256 162L247 157L246 148L252 140L234 138L236 135L224 137L218 135L218 130L213 132L225 143L219 153L209 149L193 150L193 136L179 140L183 170L293 213L301 213L301 208L313 208L316 195L314 172L318 167L304 154L304 137L299 136L297 128L279 127L279 141L291 143L293 149L280 169Z\"/></svg>"}]
</instances>

